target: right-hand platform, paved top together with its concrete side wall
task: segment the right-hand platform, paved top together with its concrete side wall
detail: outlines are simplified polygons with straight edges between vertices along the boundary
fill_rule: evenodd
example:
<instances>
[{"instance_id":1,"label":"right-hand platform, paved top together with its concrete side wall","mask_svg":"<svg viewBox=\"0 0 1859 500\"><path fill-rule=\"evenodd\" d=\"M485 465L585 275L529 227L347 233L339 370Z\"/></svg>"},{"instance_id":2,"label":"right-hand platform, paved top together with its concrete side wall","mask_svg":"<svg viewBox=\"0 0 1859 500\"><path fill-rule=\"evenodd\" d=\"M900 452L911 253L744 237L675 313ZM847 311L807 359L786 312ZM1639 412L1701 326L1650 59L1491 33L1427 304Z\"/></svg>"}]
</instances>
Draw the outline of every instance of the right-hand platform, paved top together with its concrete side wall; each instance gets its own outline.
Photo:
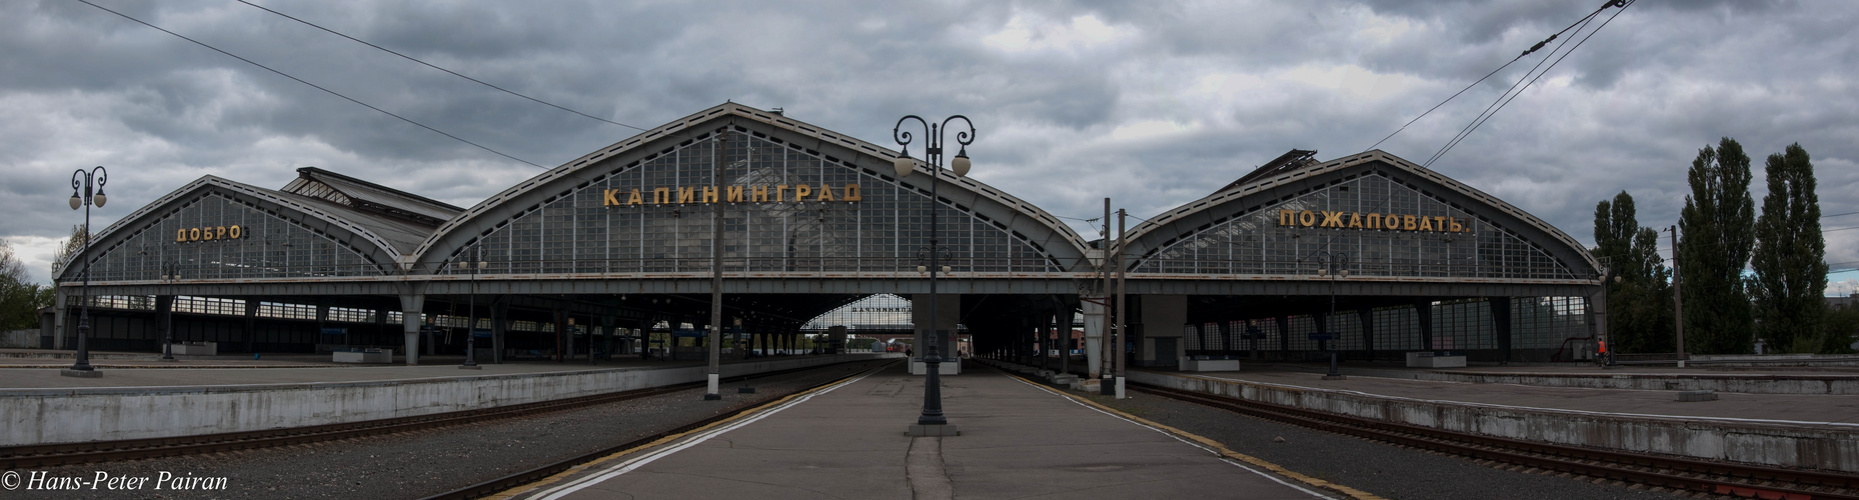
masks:
<instances>
[{"instance_id":1,"label":"right-hand platform, paved top together with its concrete side wall","mask_svg":"<svg viewBox=\"0 0 1859 500\"><path fill-rule=\"evenodd\" d=\"M1346 366L1338 370L1344 379L1324 379L1327 366L1251 364L1240 372L1130 370L1128 381L1530 442L1859 472L1859 394L1768 390L1852 383L1844 374L1801 381L1699 368L1543 368ZM1506 383L1521 379L1532 383ZM1558 387L1584 383L1602 387ZM1632 388L1641 385L1656 388ZM1697 385L1764 390L1701 392Z\"/></svg>"}]
</instances>

